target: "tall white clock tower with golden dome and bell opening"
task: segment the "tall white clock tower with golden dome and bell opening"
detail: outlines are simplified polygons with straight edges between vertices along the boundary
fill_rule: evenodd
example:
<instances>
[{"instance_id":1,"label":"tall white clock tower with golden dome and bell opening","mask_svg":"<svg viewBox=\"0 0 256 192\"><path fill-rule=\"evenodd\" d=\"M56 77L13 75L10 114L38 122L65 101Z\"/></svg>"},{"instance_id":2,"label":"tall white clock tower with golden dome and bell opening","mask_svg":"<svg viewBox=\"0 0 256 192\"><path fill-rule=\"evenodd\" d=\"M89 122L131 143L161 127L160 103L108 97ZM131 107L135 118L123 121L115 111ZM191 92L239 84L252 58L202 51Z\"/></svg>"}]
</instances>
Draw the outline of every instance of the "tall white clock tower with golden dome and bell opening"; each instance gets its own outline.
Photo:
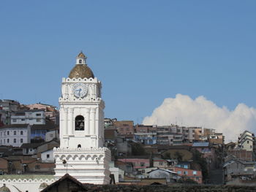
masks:
<instances>
[{"instance_id":1,"label":"tall white clock tower with golden dome and bell opening","mask_svg":"<svg viewBox=\"0 0 256 192\"><path fill-rule=\"evenodd\" d=\"M81 183L108 184L110 150L104 143L101 82L94 77L82 52L69 77L62 79L60 147L54 149L55 176L68 173Z\"/></svg>"}]
</instances>

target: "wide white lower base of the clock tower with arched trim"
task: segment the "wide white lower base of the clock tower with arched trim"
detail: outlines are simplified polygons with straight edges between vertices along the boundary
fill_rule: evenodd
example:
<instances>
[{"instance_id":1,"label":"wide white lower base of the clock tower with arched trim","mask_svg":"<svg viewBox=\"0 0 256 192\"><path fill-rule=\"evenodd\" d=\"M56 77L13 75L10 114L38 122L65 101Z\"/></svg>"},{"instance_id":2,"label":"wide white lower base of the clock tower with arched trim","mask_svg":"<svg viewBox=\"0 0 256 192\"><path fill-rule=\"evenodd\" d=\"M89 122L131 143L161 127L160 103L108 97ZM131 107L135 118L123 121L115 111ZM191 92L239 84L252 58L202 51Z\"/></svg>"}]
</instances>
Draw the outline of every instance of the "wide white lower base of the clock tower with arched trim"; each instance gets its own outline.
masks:
<instances>
[{"instance_id":1,"label":"wide white lower base of the clock tower with arched trim","mask_svg":"<svg viewBox=\"0 0 256 192\"><path fill-rule=\"evenodd\" d=\"M56 159L56 179L68 173L81 183L99 185L110 183L111 153L108 148L54 148L53 151ZM63 164L64 160L67 164Z\"/></svg>"}]
</instances>

